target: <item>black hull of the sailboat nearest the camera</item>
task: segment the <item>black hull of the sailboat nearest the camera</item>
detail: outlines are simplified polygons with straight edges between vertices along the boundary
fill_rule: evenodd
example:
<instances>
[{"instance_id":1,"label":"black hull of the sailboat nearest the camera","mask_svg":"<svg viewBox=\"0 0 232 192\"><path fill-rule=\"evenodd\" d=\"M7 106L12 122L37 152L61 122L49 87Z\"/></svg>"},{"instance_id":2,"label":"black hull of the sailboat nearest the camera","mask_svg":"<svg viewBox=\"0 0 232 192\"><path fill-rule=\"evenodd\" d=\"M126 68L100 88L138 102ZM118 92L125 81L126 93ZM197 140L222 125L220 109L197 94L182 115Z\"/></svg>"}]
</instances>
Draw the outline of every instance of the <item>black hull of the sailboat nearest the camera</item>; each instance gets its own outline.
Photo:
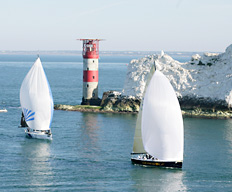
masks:
<instances>
[{"instance_id":1,"label":"black hull of the sailboat nearest the camera","mask_svg":"<svg viewBox=\"0 0 232 192\"><path fill-rule=\"evenodd\" d=\"M152 166L152 167L169 167L169 168L182 168L181 161L157 161L157 160L142 160L131 158L133 164Z\"/></svg>"}]
</instances>

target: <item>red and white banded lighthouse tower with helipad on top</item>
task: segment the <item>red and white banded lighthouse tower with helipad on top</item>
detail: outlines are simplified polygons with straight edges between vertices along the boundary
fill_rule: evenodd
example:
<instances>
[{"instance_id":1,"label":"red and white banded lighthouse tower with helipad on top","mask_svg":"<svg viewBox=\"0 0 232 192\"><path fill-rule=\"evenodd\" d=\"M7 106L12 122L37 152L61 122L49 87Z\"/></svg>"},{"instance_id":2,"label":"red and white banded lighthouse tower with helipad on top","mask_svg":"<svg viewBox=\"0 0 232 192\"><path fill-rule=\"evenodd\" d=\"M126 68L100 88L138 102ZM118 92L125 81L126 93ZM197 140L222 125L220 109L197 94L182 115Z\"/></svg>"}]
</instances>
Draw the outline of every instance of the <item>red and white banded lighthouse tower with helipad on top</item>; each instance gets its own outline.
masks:
<instances>
[{"instance_id":1,"label":"red and white banded lighthouse tower with helipad on top","mask_svg":"<svg viewBox=\"0 0 232 192\"><path fill-rule=\"evenodd\" d=\"M98 59L101 39L79 39L83 41L83 97L82 105L100 105L98 98Z\"/></svg>"}]
</instances>

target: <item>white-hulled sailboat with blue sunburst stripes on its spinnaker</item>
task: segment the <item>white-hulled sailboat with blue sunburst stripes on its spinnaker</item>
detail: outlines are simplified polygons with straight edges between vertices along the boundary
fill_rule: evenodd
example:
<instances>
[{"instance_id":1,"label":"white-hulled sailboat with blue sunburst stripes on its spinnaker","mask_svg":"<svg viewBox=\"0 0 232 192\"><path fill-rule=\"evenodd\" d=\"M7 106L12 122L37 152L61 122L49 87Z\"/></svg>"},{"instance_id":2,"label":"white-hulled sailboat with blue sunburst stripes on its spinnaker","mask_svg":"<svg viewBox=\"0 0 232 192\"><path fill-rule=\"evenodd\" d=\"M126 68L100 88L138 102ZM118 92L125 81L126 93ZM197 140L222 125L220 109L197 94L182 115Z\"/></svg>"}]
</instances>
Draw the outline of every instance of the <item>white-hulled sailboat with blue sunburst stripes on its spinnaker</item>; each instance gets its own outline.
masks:
<instances>
[{"instance_id":1,"label":"white-hulled sailboat with blue sunburst stripes on its spinnaker","mask_svg":"<svg viewBox=\"0 0 232 192\"><path fill-rule=\"evenodd\" d=\"M22 107L21 127L25 127L27 137L52 139L53 117L52 92L38 57L24 78L20 88Z\"/></svg>"}]
</instances>

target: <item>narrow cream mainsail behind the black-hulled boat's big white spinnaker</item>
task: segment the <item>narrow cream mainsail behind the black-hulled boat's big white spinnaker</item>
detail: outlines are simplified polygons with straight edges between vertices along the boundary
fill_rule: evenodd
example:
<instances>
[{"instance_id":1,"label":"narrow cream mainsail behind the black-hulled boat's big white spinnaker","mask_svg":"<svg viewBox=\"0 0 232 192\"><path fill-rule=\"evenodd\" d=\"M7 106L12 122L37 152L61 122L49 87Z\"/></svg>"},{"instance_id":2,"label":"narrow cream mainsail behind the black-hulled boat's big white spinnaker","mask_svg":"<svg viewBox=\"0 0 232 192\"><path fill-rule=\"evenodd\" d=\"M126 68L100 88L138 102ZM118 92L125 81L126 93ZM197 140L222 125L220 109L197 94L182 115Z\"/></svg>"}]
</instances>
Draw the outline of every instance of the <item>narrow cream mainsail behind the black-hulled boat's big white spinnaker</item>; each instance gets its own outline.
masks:
<instances>
[{"instance_id":1,"label":"narrow cream mainsail behind the black-hulled boat's big white spinnaker","mask_svg":"<svg viewBox=\"0 0 232 192\"><path fill-rule=\"evenodd\" d=\"M155 66L153 65L150 73L148 74L147 77L147 82L146 82L146 87L144 89L143 95L146 92L146 88L155 72ZM139 108L139 114L137 117L136 121L136 127L135 127L135 135L134 135L134 145L133 145L133 153L146 153L143 147L143 141L142 141L142 134L141 134L141 119L142 119L142 109L143 109L143 100L140 103L140 108Z\"/></svg>"}]
</instances>

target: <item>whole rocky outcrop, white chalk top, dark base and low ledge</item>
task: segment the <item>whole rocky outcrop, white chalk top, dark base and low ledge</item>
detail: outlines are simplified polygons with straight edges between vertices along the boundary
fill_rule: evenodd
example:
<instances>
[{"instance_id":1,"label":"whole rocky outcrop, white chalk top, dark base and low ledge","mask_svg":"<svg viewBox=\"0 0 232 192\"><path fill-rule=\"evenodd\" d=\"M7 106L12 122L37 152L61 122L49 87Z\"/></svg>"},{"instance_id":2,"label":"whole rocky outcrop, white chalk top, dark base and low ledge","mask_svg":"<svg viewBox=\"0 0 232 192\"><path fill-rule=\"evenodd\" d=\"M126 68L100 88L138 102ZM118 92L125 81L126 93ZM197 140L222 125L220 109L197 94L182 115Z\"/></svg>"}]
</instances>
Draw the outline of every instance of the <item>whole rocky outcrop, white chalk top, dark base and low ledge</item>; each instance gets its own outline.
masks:
<instances>
[{"instance_id":1,"label":"whole rocky outcrop, white chalk top, dark base and low ledge","mask_svg":"<svg viewBox=\"0 0 232 192\"><path fill-rule=\"evenodd\" d=\"M163 52L132 60L122 92L103 94L100 108L60 105L63 110L137 113L151 67L164 73L179 99L182 114L188 117L232 118L232 45L224 53L193 55L181 63ZM100 102L100 100L98 101Z\"/></svg>"}]
</instances>

